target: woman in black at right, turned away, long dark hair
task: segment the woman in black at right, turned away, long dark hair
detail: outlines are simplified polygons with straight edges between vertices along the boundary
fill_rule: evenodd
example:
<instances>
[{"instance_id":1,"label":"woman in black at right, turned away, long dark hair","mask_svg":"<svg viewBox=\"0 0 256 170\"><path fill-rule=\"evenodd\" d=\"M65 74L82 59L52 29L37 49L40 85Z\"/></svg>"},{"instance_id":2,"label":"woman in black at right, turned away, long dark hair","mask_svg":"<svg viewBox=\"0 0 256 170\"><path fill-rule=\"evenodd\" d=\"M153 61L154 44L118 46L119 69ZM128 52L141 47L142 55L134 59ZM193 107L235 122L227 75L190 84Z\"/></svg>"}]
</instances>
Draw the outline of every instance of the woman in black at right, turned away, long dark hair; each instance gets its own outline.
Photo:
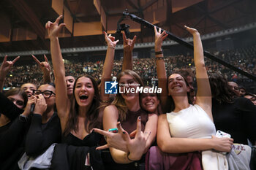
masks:
<instances>
[{"instance_id":1,"label":"woman in black at right, turned away, long dark hair","mask_svg":"<svg viewBox=\"0 0 256 170\"><path fill-rule=\"evenodd\" d=\"M256 107L247 98L236 97L222 74L209 77L212 93L212 115L217 130L231 135L234 143L255 144Z\"/></svg>"}]
</instances>

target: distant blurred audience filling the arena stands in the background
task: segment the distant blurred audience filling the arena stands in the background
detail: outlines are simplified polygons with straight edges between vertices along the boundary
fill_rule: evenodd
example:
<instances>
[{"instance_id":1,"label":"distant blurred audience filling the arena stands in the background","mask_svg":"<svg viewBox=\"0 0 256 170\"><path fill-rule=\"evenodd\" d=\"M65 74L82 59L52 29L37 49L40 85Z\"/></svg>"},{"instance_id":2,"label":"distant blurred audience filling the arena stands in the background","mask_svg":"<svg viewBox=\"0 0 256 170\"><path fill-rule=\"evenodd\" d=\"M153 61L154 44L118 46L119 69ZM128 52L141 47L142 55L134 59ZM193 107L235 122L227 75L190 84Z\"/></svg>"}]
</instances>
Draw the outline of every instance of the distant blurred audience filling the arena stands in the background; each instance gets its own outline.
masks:
<instances>
[{"instance_id":1,"label":"distant blurred audience filling the arena stands in the background","mask_svg":"<svg viewBox=\"0 0 256 170\"><path fill-rule=\"evenodd\" d=\"M215 52L214 55L218 58L230 63L233 66L242 69L244 72L256 75L256 45L251 47L245 47L238 50L229 50L225 52ZM121 72L121 64L123 61L114 61L112 76L116 77ZM191 69L195 73L193 58L191 54L166 56L166 71L167 74L175 72L177 69ZM133 70L137 72L143 81L148 85L152 85L157 80L157 72L155 61L152 58L135 58L133 61ZM90 74L99 80L102 73L103 61L97 62L76 62L69 60L65 63L66 72L74 77L78 77L80 74ZM206 69L208 72L221 72L227 77L227 80L240 82L244 84L250 81L229 68L222 66L221 64L211 61L206 58ZM10 76L12 75L12 76ZM4 88L19 87L24 82L33 82L35 85L42 83L42 72L38 69L37 63L25 66L13 66L10 70L9 76L4 84Z\"/></svg>"}]
</instances>

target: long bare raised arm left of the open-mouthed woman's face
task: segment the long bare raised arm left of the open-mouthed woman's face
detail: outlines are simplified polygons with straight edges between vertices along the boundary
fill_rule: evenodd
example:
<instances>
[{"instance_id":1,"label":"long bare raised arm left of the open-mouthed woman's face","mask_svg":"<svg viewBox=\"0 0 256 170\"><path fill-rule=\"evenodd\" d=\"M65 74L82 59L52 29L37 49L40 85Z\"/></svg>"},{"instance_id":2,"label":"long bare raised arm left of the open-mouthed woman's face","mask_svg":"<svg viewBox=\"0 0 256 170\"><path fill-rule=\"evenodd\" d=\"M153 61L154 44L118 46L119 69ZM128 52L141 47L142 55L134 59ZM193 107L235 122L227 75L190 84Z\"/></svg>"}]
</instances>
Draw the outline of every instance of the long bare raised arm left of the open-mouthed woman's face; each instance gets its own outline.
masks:
<instances>
[{"instance_id":1,"label":"long bare raised arm left of the open-mouthed woman's face","mask_svg":"<svg viewBox=\"0 0 256 170\"><path fill-rule=\"evenodd\" d=\"M50 53L53 61L53 69L55 76L56 84L56 107L58 110L58 116L61 120L61 130L64 131L66 128L67 122L67 106L68 106L68 97L67 97L67 85L65 81L65 67L64 62L62 61L61 47L59 46L59 32L61 28L65 26L64 23L59 25L62 15L56 19L54 23L48 21L45 28L48 29L48 36L50 37Z\"/></svg>"}]
</instances>

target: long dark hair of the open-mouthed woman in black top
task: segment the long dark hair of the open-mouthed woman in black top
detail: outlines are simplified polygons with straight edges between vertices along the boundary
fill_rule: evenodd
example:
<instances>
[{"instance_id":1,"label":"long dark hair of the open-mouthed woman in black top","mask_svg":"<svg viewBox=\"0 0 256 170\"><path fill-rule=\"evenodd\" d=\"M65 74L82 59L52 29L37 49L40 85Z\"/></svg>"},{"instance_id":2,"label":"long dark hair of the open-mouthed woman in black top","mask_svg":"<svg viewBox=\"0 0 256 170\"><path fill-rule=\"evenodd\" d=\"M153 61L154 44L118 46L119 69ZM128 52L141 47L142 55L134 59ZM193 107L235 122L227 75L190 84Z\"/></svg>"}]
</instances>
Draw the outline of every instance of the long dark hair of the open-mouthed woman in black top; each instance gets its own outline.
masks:
<instances>
[{"instance_id":1,"label":"long dark hair of the open-mouthed woman in black top","mask_svg":"<svg viewBox=\"0 0 256 170\"><path fill-rule=\"evenodd\" d=\"M80 77L87 77L91 80L93 88L94 88L94 98L91 101L91 107L89 108L89 111L86 112L86 122L85 122L85 127L86 131L89 133L92 128L102 128L100 121L98 120L99 117L99 106L100 106L100 101L99 101L99 89L97 82L94 80L93 77L90 75L83 75ZM75 91L75 86L78 80L80 79L78 77L75 80L73 91ZM75 93L73 93L74 98L72 99L72 107L70 108L69 112L69 117L67 120L67 125L64 130L64 135L69 134L70 131L74 130L75 132L78 131L78 110L79 110L79 105L78 102L75 99ZM89 123L89 124L88 124Z\"/></svg>"}]
</instances>

